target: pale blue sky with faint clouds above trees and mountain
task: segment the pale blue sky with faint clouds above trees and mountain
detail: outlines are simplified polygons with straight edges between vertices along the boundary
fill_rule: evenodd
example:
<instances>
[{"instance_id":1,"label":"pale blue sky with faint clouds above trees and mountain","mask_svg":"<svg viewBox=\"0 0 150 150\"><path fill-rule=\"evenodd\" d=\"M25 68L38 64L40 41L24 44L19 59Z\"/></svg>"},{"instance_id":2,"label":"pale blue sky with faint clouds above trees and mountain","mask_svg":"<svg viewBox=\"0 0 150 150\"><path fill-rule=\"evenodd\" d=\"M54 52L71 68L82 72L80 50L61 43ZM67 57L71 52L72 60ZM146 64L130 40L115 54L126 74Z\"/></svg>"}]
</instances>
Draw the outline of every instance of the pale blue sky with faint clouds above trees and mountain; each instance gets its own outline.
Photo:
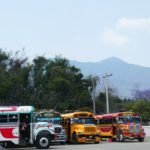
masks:
<instances>
[{"instance_id":1,"label":"pale blue sky with faint clouds above trees and mountain","mask_svg":"<svg viewBox=\"0 0 150 150\"><path fill-rule=\"evenodd\" d=\"M0 0L0 48L150 67L149 0Z\"/></svg>"}]
</instances>

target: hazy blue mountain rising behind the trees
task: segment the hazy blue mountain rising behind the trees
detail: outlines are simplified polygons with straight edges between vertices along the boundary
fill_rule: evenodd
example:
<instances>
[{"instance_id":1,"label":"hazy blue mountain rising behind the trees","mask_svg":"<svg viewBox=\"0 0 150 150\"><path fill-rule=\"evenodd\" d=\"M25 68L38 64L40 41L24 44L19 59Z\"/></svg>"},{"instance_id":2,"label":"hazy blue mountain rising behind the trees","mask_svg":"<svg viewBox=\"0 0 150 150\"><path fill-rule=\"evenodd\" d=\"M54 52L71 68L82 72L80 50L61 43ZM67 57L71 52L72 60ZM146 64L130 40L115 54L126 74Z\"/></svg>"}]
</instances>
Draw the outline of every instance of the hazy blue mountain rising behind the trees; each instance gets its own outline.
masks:
<instances>
[{"instance_id":1,"label":"hazy blue mountain rising behind the trees","mask_svg":"<svg viewBox=\"0 0 150 150\"><path fill-rule=\"evenodd\" d=\"M104 90L103 76L109 77L109 87L117 89L117 94L123 98L131 98L135 89L150 89L150 68L129 64L121 59L111 57L100 62L71 61L71 65L81 69L84 76L100 77L100 89Z\"/></svg>"}]
</instances>

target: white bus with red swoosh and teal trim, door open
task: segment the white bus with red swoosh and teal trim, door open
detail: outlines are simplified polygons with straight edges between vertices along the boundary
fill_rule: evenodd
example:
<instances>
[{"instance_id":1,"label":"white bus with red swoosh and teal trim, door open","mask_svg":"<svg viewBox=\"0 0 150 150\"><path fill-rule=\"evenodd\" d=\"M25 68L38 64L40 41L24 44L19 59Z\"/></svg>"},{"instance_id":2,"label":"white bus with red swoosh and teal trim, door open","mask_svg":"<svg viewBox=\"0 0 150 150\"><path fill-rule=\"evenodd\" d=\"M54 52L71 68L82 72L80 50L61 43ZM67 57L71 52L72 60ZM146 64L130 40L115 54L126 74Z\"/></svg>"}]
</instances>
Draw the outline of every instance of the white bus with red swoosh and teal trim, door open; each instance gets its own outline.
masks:
<instances>
[{"instance_id":1,"label":"white bus with red swoosh and teal trim, door open","mask_svg":"<svg viewBox=\"0 0 150 150\"><path fill-rule=\"evenodd\" d=\"M54 138L49 123L34 123L32 106L0 107L0 143L48 148Z\"/></svg>"}]
</instances>

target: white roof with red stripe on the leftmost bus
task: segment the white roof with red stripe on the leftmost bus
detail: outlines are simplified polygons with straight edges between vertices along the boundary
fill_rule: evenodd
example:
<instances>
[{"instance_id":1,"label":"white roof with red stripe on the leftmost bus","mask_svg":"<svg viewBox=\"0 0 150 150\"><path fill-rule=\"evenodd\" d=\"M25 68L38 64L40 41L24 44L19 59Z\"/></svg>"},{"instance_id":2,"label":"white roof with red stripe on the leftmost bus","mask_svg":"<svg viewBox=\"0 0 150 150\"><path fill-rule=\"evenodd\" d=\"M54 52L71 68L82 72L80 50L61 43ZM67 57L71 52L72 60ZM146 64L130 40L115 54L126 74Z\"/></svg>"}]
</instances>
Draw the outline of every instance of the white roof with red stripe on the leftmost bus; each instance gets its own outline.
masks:
<instances>
[{"instance_id":1,"label":"white roof with red stripe on the leftmost bus","mask_svg":"<svg viewBox=\"0 0 150 150\"><path fill-rule=\"evenodd\" d=\"M33 106L0 106L0 113L31 113Z\"/></svg>"}]
</instances>

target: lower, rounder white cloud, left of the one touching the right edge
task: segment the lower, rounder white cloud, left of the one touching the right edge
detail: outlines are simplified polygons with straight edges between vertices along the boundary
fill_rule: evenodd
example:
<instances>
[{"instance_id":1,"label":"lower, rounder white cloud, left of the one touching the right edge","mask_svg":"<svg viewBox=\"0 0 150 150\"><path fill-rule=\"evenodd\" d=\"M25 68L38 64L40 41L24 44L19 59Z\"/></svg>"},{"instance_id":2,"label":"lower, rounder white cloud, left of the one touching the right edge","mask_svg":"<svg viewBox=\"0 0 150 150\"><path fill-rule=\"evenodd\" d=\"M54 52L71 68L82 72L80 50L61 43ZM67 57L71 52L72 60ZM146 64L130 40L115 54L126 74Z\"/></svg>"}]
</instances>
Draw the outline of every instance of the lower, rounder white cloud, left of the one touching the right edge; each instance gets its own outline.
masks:
<instances>
[{"instance_id":1,"label":"lower, rounder white cloud, left of the one touching the right edge","mask_svg":"<svg viewBox=\"0 0 150 150\"><path fill-rule=\"evenodd\" d=\"M112 44L114 46L122 46L129 42L129 39L114 30L105 30L101 36L101 39L109 44Z\"/></svg>"}]
</instances>

